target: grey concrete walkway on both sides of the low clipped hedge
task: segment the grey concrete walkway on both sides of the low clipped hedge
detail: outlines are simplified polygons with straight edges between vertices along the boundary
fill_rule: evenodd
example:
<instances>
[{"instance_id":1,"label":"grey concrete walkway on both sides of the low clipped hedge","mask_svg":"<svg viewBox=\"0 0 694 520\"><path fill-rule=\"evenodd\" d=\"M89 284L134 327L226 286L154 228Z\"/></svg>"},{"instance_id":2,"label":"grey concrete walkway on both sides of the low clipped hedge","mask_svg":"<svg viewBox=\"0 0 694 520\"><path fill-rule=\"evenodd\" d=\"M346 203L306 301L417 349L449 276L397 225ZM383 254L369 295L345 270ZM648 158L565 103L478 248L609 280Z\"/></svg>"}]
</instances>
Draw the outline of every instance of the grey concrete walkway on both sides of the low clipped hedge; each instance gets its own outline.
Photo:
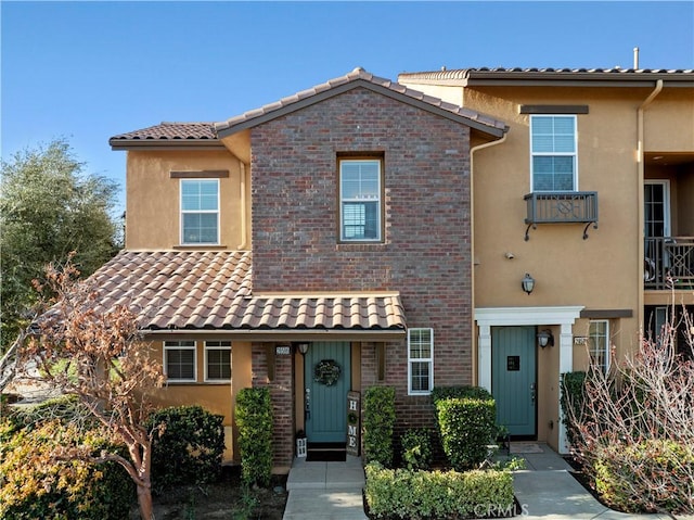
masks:
<instances>
[{"instance_id":1,"label":"grey concrete walkway on both sides of the low clipped hedge","mask_svg":"<svg viewBox=\"0 0 694 520\"><path fill-rule=\"evenodd\" d=\"M512 443L512 454L526 460L515 471L513 487L523 520L671 520L668 515L626 515L603 506L569 474L570 466L543 443ZM295 459L286 489L283 520L368 520L363 510L361 459L307 462ZM678 520L694 520L678 516Z\"/></svg>"}]
</instances>

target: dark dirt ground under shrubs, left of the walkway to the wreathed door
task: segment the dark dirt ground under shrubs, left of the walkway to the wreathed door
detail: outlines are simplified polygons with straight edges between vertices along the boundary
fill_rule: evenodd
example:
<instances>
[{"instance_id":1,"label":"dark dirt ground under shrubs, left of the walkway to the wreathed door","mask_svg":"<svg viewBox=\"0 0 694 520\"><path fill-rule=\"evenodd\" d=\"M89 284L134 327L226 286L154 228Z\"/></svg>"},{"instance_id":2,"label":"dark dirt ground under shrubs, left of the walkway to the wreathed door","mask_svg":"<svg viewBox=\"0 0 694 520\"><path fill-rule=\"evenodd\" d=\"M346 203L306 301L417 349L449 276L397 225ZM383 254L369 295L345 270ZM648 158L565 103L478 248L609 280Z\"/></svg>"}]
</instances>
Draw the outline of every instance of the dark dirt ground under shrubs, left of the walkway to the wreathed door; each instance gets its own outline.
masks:
<instances>
[{"instance_id":1,"label":"dark dirt ground under shrubs, left of the walkway to the wreathed door","mask_svg":"<svg viewBox=\"0 0 694 520\"><path fill-rule=\"evenodd\" d=\"M182 486L154 497L156 520L282 520L286 505L286 477L273 477L269 489L245 492L239 468L224 468L221 481ZM139 519L133 508L131 520Z\"/></svg>"}]
</instances>

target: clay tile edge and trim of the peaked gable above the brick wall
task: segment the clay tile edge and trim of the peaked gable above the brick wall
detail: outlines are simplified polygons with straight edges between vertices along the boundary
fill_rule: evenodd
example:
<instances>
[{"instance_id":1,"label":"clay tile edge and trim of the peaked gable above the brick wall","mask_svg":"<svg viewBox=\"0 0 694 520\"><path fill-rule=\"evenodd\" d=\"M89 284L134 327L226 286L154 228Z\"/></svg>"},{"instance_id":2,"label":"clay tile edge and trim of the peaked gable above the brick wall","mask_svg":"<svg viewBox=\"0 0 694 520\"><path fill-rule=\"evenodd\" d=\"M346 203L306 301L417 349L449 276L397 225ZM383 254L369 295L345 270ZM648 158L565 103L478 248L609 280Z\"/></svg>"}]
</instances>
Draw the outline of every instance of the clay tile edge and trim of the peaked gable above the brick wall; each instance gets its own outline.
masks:
<instances>
[{"instance_id":1,"label":"clay tile edge and trim of the peaked gable above the brick wall","mask_svg":"<svg viewBox=\"0 0 694 520\"><path fill-rule=\"evenodd\" d=\"M425 109L439 109L445 113L465 119L468 124L472 124L479 129L486 128L490 132L498 134L499 137L500 134L503 134L506 129L505 123L494 119L493 117L483 115L478 112L464 109L453 103L448 103L433 96L427 96L419 90L413 90L404 85L391 81L390 79L374 76L361 67L357 67L344 76L331 79L324 84L317 85L316 87L303 90L287 98L283 98L274 103L248 111L244 114L227 119L226 122L215 123L215 129L220 137L224 137L224 135L233 134L241 129L264 123L275 115L283 115L287 113L287 111L298 110L307 104L319 102L324 99L321 94L331 94L333 92L339 93L343 91L342 88L351 87L351 84L355 84L355 86L361 85L376 88L380 89L380 91L385 91L390 94L395 93L401 97L401 100L420 102Z\"/></svg>"}]
</instances>

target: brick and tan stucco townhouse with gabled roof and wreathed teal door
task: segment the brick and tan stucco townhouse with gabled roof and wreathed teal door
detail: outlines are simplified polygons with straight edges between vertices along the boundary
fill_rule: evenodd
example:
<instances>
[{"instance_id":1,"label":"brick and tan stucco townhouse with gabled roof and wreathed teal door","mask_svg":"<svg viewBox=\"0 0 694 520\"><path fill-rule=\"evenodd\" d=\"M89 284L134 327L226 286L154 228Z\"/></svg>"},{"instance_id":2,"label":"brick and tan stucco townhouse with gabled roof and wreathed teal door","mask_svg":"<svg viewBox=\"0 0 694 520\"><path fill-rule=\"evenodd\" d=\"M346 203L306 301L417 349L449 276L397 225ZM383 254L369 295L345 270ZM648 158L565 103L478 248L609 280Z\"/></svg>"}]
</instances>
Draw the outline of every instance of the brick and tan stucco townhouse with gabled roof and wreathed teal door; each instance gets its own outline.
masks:
<instances>
[{"instance_id":1,"label":"brick and tan stucco townhouse with gabled roof and wreathed teal door","mask_svg":"<svg viewBox=\"0 0 694 520\"><path fill-rule=\"evenodd\" d=\"M162 404L224 416L227 458L248 386L270 388L278 471L298 430L347 443L350 391L393 385L398 429L430 424L432 388L474 381L471 149L505 131L357 68L221 123L115 136L126 248L92 277L100 304L137 310Z\"/></svg>"}]
</instances>

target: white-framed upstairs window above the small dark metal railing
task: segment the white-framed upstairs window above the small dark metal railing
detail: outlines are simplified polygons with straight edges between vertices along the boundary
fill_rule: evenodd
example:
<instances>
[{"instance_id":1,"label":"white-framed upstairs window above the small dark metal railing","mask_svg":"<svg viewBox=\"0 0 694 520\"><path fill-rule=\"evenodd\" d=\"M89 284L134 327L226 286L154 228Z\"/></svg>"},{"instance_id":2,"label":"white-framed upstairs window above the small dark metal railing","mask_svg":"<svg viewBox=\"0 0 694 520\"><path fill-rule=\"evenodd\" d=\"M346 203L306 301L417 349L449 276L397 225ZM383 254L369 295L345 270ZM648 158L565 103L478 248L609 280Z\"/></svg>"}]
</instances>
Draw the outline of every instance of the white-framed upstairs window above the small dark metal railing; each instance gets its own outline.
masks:
<instances>
[{"instance_id":1,"label":"white-framed upstairs window above the small dark metal railing","mask_svg":"<svg viewBox=\"0 0 694 520\"><path fill-rule=\"evenodd\" d=\"M575 115L530 116L532 191L575 191L577 130Z\"/></svg>"}]
</instances>

